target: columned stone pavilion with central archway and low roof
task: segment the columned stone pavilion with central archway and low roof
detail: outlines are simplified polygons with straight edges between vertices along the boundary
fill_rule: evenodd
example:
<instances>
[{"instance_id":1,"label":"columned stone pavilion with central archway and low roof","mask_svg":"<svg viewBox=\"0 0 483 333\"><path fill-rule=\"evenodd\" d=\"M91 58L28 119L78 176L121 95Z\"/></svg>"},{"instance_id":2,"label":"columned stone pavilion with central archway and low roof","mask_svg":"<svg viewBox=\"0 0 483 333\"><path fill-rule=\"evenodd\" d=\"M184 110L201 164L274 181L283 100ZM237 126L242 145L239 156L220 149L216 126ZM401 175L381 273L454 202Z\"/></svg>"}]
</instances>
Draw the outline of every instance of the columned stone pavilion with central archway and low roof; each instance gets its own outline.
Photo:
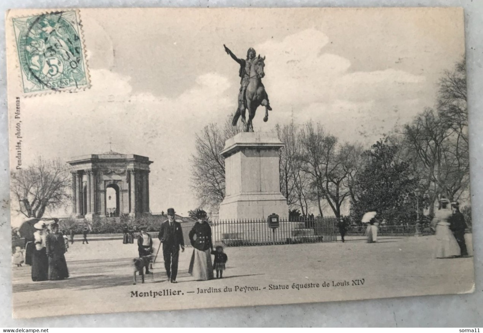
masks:
<instances>
[{"instance_id":1,"label":"columned stone pavilion with central archway and low roof","mask_svg":"<svg viewBox=\"0 0 483 333\"><path fill-rule=\"evenodd\" d=\"M149 214L149 165L146 156L108 152L72 157L72 217L105 217L106 191L116 190L117 215Z\"/></svg>"}]
</instances>

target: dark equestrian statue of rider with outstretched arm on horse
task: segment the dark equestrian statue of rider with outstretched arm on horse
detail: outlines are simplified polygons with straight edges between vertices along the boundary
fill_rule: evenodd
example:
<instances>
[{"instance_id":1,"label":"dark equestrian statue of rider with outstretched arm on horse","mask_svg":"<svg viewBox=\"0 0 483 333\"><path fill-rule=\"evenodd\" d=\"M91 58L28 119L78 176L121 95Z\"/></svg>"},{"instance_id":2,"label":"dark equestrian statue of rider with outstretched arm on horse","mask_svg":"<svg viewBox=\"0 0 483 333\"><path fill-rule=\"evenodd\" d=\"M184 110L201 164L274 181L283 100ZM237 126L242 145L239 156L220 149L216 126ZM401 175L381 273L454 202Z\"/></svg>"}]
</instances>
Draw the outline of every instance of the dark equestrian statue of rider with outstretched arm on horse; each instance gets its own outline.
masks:
<instances>
[{"instance_id":1,"label":"dark equestrian statue of rider with outstretched arm on horse","mask_svg":"<svg viewBox=\"0 0 483 333\"><path fill-rule=\"evenodd\" d=\"M245 125L245 132L253 132L252 120L255 117L255 111L260 106L265 107L265 117L263 121L269 119L270 102L262 78L265 76L263 68L265 66L265 57L256 56L253 48L249 48L246 59L238 58L225 44L225 52L230 55L233 60L240 64L241 87L238 94L238 109L233 116L232 124L237 125L238 118L241 116L241 122ZM248 109L248 121L245 119L245 111Z\"/></svg>"}]
</instances>

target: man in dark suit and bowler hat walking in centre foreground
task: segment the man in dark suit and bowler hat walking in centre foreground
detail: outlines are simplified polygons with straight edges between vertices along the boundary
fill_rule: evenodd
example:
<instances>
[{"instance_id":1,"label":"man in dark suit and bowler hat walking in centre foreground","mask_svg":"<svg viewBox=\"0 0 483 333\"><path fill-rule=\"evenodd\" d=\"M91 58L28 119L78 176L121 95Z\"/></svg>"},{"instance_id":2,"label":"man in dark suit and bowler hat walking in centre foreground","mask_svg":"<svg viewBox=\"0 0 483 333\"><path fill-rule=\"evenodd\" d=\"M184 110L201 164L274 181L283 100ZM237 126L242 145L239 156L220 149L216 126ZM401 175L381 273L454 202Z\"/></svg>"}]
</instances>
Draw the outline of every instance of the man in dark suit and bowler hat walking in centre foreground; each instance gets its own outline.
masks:
<instances>
[{"instance_id":1,"label":"man in dark suit and bowler hat walking in centre foreground","mask_svg":"<svg viewBox=\"0 0 483 333\"><path fill-rule=\"evenodd\" d=\"M163 243L164 268L171 283L176 283L178 275L179 250L185 251L185 240L181 224L174 221L174 208L168 208L168 221L161 224L158 238Z\"/></svg>"}]
</instances>

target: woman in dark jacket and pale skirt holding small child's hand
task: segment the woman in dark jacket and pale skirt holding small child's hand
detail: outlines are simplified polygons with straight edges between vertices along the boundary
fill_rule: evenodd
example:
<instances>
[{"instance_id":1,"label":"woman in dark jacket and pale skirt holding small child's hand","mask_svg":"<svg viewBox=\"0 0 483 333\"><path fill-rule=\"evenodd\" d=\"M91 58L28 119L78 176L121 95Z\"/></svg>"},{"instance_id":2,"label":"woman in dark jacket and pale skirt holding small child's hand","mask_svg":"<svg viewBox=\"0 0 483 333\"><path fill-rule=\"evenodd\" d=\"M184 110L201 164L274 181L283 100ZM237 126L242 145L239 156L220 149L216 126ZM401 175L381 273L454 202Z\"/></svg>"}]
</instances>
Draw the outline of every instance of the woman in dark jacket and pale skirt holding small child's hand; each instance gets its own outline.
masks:
<instances>
[{"instance_id":1,"label":"woman in dark jacket and pale skirt holding small child's hand","mask_svg":"<svg viewBox=\"0 0 483 333\"><path fill-rule=\"evenodd\" d=\"M193 246L193 254L189 263L188 273L195 280L211 280L213 278L213 264L211 252L213 251L212 232L210 224L205 220L206 212L198 209L196 212L198 222L189 232L189 240ZM194 238L196 235L196 239Z\"/></svg>"}]
</instances>

